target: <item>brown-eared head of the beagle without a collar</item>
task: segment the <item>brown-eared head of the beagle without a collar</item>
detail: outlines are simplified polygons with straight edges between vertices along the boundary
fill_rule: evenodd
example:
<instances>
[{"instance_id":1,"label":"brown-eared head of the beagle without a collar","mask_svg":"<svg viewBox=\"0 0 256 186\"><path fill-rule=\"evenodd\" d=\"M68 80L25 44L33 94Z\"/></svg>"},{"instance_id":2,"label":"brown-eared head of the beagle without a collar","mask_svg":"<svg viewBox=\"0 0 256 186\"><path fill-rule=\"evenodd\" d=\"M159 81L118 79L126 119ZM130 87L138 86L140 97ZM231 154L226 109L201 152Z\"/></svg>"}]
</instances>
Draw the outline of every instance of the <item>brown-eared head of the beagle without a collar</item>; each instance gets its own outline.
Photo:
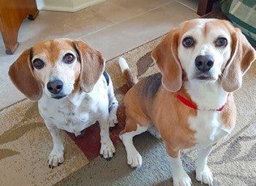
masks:
<instances>
[{"instance_id":1,"label":"brown-eared head of the beagle without a collar","mask_svg":"<svg viewBox=\"0 0 256 186\"><path fill-rule=\"evenodd\" d=\"M25 50L10 66L9 75L31 100L39 100L43 91L59 99L75 90L90 92L104 66L101 53L84 42L54 39Z\"/></svg>"}]
</instances>

